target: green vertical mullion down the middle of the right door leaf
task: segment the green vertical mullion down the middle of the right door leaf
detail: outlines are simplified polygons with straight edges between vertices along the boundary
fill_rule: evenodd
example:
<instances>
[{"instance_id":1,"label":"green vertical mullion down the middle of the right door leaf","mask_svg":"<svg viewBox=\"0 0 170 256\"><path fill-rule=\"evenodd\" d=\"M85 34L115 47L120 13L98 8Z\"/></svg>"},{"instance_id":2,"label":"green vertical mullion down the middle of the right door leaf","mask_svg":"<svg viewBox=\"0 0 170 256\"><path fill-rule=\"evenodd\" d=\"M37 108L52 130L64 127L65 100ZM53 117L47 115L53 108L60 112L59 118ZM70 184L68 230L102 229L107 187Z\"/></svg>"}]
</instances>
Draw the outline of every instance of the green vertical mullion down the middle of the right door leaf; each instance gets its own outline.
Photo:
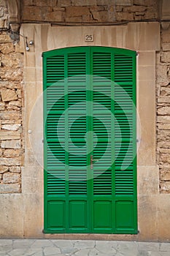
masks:
<instances>
[{"instance_id":1,"label":"green vertical mullion down the middle of the right door leaf","mask_svg":"<svg viewBox=\"0 0 170 256\"><path fill-rule=\"evenodd\" d=\"M111 55L112 232L115 230L115 53Z\"/></svg>"}]
</instances>

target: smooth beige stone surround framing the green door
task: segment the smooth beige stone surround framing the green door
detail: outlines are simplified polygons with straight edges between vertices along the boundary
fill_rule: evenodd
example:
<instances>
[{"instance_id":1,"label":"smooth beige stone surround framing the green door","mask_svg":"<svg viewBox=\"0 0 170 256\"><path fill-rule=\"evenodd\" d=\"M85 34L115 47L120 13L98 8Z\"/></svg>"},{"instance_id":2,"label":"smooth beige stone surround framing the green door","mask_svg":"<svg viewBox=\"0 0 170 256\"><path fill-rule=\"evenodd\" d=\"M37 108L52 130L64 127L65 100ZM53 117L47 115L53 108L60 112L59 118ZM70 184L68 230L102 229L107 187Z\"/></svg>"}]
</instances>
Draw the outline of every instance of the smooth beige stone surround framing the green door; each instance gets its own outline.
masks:
<instances>
[{"instance_id":1,"label":"smooth beige stone surround framing the green door","mask_svg":"<svg viewBox=\"0 0 170 256\"><path fill-rule=\"evenodd\" d=\"M18 213L10 217L9 231L4 236L38 238L96 238L117 240L168 240L170 195L159 194L159 173L156 165L155 132L155 52L160 50L160 24L128 23L125 26L50 26L23 24L20 28L20 52L24 54L24 130L26 158L22 176L22 194L10 197ZM93 42L85 35L93 34ZM26 51L26 39L33 40ZM42 120L42 52L72 46L98 45L128 48L137 57L138 122L138 235L45 235L43 230L43 120ZM6 198L9 202L9 198ZM3 200L5 205L5 199ZM9 204L9 203L8 203ZM9 207L9 206L7 206ZM164 210L164 211L163 211ZM1 214L1 221L5 214ZM163 221L163 219L165 219ZM15 222L15 225L12 223ZM169 222L169 223L167 223ZM19 224L18 224L19 223ZM7 228L7 227L6 227ZM12 235L11 235L12 233Z\"/></svg>"}]
</instances>

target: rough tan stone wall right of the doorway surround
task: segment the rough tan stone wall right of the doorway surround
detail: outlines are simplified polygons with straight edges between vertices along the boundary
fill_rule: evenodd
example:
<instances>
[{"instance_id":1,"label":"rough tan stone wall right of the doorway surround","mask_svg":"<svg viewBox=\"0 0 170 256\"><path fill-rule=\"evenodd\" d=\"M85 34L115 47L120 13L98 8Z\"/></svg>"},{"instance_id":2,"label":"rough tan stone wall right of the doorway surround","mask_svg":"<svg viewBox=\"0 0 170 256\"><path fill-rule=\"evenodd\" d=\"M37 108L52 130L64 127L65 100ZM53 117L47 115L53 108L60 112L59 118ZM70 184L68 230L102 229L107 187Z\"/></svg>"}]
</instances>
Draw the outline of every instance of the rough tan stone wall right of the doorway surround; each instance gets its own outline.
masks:
<instances>
[{"instance_id":1,"label":"rough tan stone wall right of the doorway surround","mask_svg":"<svg viewBox=\"0 0 170 256\"><path fill-rule=\"evenodd\" d=\"M158 165L160 189L170 193L170 26L162 24L161 53L157 54Z\"/></svg>"}]
</instances>

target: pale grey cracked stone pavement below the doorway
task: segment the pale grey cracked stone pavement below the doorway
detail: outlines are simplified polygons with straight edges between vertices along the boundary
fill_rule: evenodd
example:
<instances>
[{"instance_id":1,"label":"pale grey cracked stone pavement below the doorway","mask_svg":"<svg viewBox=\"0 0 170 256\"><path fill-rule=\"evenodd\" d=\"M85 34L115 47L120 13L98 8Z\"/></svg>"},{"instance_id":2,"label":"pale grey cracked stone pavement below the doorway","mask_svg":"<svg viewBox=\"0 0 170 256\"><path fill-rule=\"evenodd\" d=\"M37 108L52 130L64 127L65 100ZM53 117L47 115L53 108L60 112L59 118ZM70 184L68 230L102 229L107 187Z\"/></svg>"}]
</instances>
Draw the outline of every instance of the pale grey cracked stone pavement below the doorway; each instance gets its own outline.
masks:
<instances>
[{"instance_id":1,"label":"pale grey cracked stone pavement below the doorway","mask_svg":"<svg viewBox=\"0 0 170 256\"><path fill-rule=\"evenodd\" d=\"M0 256L170 256L170 243L0 239Z\"/></svg>"}]
</instances>

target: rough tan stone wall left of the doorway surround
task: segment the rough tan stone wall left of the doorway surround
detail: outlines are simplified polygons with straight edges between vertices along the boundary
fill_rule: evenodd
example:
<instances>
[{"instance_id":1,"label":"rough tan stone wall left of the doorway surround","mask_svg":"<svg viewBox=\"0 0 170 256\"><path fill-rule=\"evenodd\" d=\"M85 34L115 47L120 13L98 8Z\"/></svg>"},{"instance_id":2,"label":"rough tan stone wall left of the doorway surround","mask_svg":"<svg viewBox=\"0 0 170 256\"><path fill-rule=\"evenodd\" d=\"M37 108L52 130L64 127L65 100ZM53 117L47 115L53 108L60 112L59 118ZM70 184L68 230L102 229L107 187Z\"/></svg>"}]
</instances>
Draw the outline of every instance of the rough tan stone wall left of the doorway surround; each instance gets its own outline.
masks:
<instances>
[{"instance_id":1,"label":"rough tan stone wall left of the doorway surround","mask_svg":"<svg viewBox=\"0 0 170 256\"><path fill-rule=\"evenodd\" d=\"M23 55L4 31L6 1L0 1L0 16L0 193L18 193L23 166Z\"/></svg>"}]
</instances>

